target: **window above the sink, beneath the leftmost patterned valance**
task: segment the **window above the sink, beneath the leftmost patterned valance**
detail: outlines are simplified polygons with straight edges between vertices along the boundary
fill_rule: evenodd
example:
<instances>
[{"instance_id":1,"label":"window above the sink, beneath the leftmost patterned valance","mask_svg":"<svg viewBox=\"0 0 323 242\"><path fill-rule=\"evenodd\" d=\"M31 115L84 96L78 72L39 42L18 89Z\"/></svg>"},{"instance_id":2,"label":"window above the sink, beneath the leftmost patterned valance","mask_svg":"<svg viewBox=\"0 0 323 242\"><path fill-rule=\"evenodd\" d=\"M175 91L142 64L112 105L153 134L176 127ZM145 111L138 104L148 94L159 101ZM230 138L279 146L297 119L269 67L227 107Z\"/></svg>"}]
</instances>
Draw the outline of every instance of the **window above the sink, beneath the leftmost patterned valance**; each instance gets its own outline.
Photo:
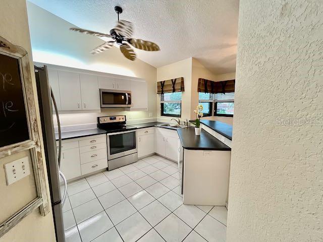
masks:
<instances>
[{"instance_id":1,"label":"window above the sink, beneath the leftmost patterned valance","mask_svg":"<svg viewBox=\"0 0 323 242\"><path fill-rule=\"evenodd\" d=\"M182 92L160 94L160 115L181 117Z\"/></svg>"}]
</instances>

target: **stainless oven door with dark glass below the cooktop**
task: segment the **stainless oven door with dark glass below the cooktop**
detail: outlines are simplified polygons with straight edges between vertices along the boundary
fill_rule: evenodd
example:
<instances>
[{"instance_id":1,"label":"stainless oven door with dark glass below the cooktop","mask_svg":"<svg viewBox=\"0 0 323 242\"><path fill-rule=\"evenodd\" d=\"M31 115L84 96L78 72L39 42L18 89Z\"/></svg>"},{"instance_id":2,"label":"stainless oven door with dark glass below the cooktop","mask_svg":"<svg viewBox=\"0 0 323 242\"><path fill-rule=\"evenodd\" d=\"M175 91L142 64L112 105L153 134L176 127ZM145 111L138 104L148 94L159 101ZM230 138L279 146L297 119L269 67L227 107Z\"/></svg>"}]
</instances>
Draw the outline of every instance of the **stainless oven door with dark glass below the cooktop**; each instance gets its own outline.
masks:
<instances>
[{"instance_id":1,"label":"stainless oven door with dark glass below the cooktop","mask_svg":"<svg viewBox=\"0 0 323 242\"><path fill-rule=\"evenodd\" d=\"M106 141L108 160L137 152L137 131L135 130L107 134Z\"/></svg>"}]
</instances>

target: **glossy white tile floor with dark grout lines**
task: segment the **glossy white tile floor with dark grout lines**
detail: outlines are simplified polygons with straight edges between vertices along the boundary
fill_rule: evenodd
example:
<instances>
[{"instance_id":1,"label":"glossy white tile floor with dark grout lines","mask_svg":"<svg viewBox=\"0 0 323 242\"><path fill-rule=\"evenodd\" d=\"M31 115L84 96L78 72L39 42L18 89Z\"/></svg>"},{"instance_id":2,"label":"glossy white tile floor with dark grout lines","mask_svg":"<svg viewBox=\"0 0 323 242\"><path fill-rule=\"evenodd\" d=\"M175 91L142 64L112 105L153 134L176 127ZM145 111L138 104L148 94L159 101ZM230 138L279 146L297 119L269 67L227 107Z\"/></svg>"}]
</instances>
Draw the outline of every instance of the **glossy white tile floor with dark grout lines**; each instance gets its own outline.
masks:
<instances>
[{"instance_id":1,"label":"glossy white tile floor with dark grout lines","mask_svg":"<svg viewBox=\"0 0 323 242\"><path fill-rule=\"evenodd\" d=\"M153 155L68 184L67 242L226 241L225 207L184 205L177 163Z\"/></svg>"}]
</instances>

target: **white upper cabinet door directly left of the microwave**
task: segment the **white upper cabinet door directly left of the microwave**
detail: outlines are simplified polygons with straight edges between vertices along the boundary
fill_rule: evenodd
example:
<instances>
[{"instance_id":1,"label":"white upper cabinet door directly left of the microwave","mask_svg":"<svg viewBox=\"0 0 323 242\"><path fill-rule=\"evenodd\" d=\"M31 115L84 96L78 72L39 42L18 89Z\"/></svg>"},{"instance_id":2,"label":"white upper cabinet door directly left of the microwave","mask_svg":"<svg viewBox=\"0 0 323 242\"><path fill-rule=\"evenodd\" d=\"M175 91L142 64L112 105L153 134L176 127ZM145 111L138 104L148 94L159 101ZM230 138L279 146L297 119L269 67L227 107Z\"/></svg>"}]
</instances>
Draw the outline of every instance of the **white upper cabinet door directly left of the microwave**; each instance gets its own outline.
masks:
<instances>
[{"instance_id":1,"label":"white upper cabinet door directly left of the microwave","mask_svg":"<svg viewBox=\"0 0 323 242\"><path fill-rule=\"evenodd\" d=\"M100 109L100 95L97 76L80 74L83 110Z\"/></svg>"}]
</instances>

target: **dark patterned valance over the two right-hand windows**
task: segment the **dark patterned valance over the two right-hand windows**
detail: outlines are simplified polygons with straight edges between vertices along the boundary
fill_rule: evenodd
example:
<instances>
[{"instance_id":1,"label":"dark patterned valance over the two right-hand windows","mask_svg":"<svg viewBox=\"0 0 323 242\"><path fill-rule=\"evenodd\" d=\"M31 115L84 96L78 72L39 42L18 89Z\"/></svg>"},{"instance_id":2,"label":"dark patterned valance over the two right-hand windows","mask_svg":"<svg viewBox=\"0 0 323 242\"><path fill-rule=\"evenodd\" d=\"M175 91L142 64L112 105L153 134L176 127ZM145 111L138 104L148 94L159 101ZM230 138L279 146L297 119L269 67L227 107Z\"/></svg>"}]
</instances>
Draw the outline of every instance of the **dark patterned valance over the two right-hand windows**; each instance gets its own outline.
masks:
<instances>
[{"instance_id":1,"label":"dark patterned valance over the two right-hand windows","mask_svg":"<svg viewBox=\"0 0 323 242\"><path fill-rule=\"evenodd\" d=\"M214 82L203 78L198 79L197 91L204 93L228 93L234 92L236 80Z\"/></svg>"}]
</instances>

